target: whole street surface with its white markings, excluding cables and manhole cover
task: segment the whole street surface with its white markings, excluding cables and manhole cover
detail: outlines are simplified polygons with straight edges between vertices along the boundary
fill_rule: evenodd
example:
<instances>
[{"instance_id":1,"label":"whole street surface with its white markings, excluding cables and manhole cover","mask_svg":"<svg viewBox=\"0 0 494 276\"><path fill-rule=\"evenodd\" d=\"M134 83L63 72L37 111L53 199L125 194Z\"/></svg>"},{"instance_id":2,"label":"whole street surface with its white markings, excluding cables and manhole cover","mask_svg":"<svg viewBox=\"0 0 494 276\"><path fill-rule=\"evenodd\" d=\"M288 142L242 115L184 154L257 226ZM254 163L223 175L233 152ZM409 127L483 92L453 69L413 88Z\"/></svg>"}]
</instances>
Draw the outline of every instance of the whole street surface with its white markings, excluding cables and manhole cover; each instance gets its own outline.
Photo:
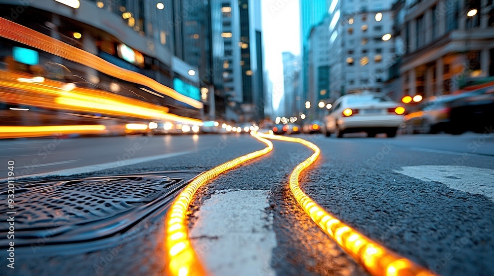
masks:
<instances>
[{"instance_id":1,"label":"whole street surface with its white markings, excluding cables and manhole cover","mask_svg":"<svg viewBox=\"0 0 494 276\"><path fill-rule=\"evenodd\" d=\"M297 137L322 151L300 184L329 213L439 275L494 275L493 134ZM206 268L214 275L366 275L290 193L288 176L311 150L273 143L268 155L221 174L197 193L189 230ZM0 140L0 147L5 164L0 178L7 176L7 161L14 160L17 175L63 179L201 172L264 144L248 135L202 135ZM16 249L15 273L6 268L2 249L1 271L161 275L163 220L140 229L119 247L50 245L43 254ZM116 254L103 260L109 252Z\"/></svg>"}]
</instances>

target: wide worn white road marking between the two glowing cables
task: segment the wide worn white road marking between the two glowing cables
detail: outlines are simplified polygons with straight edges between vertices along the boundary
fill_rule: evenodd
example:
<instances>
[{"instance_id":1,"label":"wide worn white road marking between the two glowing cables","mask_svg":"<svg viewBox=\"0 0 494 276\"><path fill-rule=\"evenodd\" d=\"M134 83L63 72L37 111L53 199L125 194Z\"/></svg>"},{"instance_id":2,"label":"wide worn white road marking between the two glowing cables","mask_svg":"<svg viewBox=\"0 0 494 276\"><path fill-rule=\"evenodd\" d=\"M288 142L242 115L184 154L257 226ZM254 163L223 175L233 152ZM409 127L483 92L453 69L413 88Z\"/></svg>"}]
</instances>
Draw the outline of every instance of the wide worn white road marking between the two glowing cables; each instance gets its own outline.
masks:
<instances>
[{"instance_id":1,"label":"wide worn white road marking between the two glowing cables","mask_svg":"<svg viewBox=\"0 0 494 276\"><path fill-rule=\"evenodd\" d=\"M275 276L273 216L266 190L218 191L199 211L190 231L192 246L211 275Z\"/></svg>"}]
</instances>

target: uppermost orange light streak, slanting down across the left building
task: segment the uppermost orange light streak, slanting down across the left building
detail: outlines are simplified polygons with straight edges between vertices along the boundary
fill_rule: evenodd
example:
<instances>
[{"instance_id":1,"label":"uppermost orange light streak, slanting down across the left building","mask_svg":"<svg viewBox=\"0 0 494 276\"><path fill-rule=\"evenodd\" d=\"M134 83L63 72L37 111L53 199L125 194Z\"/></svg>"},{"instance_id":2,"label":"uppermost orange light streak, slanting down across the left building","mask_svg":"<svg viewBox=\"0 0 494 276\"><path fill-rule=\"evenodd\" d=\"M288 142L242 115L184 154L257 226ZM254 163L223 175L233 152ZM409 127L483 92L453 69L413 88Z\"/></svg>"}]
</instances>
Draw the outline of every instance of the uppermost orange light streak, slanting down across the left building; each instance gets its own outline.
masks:
<instances>
[{"instance_id":1,"label":"uppermost orange light streak, slanting down across the left building","mask_svg":"<svg viewBox=\"0 0 494 276\"><path fill-rule=\"evenodd\" d=\"M80 63L92 69L96 69L104 74L148 86L164 95L167 95L182 103L189 104L195 108L203 108L204 106L200 101L184 96L152 78L113 65L82 49L68 45L53 37L43 35L4 18L0 18L0 36L38 48L64 59Z\"/></svg>"}]
</instances>

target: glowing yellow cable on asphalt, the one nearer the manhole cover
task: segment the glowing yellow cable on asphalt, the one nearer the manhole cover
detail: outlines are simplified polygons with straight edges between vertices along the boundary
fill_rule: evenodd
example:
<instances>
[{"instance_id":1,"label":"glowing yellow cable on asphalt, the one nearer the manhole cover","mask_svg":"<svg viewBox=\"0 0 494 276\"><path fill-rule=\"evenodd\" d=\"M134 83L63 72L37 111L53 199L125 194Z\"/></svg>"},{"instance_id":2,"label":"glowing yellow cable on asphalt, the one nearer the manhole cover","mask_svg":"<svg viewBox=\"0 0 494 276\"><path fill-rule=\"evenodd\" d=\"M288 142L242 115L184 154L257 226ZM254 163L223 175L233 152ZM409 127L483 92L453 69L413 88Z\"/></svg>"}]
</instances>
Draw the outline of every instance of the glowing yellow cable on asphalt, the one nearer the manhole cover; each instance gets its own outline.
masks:
<instances>
[{"instance_id":1,"label":"glowing yellow cable on asphalt, the one nearer the manhole cover","mask_svg":"<svg viewBox=\"0 0 494 276\"><path fill-rule=\"evenodd\" d=\"M251 134L259 141L265 143L264 149L251 152L231 161L223 163L206 173L196 177L178 195L166 216L166 242L165 249L168 261L167 275L199 276L206 275L206 270L199 261L194 248L191 245L187 229L187 212L192 198L197 190L206 182L220 173L224 173L249 160L267 154L273 149L273 143L264 138Z\"/></svg>"}]
</instances>

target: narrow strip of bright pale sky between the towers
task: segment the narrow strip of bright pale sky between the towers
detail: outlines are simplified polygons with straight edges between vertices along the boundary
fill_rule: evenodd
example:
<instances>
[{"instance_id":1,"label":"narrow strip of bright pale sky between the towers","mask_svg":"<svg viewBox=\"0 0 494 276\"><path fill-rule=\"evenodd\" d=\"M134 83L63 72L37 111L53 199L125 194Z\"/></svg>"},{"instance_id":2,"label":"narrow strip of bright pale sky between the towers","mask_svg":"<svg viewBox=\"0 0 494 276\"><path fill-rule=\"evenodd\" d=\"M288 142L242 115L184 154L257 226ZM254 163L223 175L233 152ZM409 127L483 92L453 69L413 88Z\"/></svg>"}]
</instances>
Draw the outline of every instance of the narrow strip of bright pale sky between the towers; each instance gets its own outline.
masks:
<instances>
[{"instance_id":1,"label":"narrow strip of bright pale sky between the towers","mask_svg":"<svg viewBox=\"0 0 494 276\"><path fill-rule=\"evenodd\" d=\"M264 61L269 79L273 82L273 111L282 100L283 52L300 54L299 0L262 0L262 30L264 33Z\"/></svg>"}]
</instances>

